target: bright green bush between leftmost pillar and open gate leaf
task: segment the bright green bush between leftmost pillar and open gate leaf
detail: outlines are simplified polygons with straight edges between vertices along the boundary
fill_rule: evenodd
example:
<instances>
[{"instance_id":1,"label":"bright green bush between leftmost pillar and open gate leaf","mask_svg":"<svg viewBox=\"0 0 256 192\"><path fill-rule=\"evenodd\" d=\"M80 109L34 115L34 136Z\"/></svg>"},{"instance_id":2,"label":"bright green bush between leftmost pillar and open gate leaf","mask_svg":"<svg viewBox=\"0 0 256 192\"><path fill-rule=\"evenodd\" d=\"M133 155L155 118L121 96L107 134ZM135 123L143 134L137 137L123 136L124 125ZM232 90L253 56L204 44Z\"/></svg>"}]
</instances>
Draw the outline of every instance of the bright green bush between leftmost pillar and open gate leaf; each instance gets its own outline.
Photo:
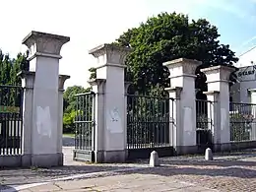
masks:
<instances>
[{"instance_id":1,"label":"bright green bush between leftmost pillar and open gate leaf","mask_svg":"<svg viewBox=\"0 0 256 192\"><path fill-rule=\"evenodd\" d=\"M74 133L75 125L74 120L77 111L77 98L76 95L91 92L91 88L85 89L82 86L73 86L67 88L63 95L63 132Z\"/></svg>"}]
</instances>

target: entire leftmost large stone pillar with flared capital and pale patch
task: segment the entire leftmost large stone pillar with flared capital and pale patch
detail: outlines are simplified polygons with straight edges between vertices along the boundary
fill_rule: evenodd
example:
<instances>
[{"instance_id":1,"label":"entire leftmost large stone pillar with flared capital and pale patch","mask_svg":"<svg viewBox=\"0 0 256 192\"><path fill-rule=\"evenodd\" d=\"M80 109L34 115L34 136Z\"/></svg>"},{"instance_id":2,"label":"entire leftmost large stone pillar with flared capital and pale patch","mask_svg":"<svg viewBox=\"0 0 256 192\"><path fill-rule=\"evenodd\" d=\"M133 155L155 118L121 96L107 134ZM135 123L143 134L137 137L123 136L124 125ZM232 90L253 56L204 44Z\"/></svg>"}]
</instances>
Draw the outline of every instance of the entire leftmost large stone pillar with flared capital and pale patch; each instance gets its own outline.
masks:
<instances>
[{"instance_id":1,"label":"entire leftmost large stone pillar with flared capital and pale patch","mask_svg":"<svg viewBox=\"0 0 256 192\"><path fill-rule=\"evenodd\" d=\"M29 60L35 71L31 135L33 166L63 164L60 151L59 59L62 45L69 40L67 36L44 32L31 32L23 40L30 49Z\"/></svg>"}]
</instances>

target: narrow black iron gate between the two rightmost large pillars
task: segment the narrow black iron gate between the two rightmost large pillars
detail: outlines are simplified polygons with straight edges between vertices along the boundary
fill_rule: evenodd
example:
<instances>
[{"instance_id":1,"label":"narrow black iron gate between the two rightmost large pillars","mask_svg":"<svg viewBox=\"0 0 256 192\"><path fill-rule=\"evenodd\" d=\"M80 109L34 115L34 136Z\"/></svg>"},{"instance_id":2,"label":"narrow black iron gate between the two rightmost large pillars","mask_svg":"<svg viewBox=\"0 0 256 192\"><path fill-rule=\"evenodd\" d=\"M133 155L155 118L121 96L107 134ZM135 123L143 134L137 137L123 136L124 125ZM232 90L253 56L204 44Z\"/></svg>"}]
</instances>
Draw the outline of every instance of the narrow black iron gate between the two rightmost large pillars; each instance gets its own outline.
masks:
<instances>
[{"instance_id":1,"label":"narrow black iron gate between the two rightmost large pillars","mask_svg":"<svg viewBox=\"0 0 256 192\"><path fill-rule=\"evenodd\" d=\"M196 100L197 146L199 153L207 148L213 149L213 110L215 102L210 100Z\"/></svg>"}]
</instances>

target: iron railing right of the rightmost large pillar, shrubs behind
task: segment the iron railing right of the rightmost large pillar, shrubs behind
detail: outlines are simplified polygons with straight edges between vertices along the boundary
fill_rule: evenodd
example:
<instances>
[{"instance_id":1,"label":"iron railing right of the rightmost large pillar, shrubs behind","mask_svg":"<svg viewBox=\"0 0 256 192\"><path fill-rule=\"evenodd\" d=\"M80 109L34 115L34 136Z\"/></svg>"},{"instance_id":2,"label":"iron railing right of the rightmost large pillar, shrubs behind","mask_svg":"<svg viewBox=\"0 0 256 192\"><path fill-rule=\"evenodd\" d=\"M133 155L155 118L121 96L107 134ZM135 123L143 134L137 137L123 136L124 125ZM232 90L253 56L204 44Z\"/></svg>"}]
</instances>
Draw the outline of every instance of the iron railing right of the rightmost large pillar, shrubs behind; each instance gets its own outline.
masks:
<instances>
[{"instance_id":1,"label":"iron railing right of the rightmost large pillar, shrubs behind","mask_svg":"<svg viewBox=\"0 0 256 192\"><path fill-rule=\"evenodd\" d=\"M230 141L256 141L256 104L229 102Z\"/></svg>"}]
</instances>

